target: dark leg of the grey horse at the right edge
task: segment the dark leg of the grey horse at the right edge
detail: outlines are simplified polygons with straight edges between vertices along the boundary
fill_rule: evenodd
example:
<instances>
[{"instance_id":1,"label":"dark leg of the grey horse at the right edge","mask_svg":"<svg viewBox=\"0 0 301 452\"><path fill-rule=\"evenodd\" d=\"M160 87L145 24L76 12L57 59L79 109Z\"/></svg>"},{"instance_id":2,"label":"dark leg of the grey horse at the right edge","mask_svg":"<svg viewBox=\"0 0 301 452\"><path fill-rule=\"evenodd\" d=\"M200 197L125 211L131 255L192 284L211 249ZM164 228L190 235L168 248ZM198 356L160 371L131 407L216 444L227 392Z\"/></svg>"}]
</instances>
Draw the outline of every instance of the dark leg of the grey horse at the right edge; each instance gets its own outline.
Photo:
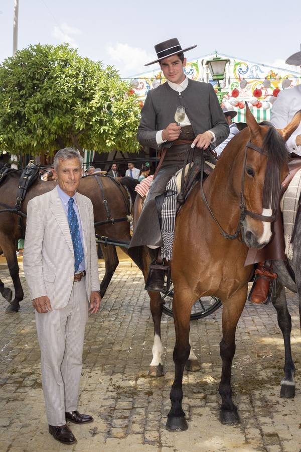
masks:
<instances>
[{"instance_id":1,"label":"dark leg of the grey horse at the right edge","mask_svg":"<svg viewBox=\"0 0 301 452\"><path fill-rule=\"evenodd\" d=\"M280 283L277 284L279 286ZM281 381L280 397L287 399L295 396L295 382L293 378L295 367L292 361L290 348L291 317L287 309L285 289L282 285L277 291L277 296L274 297L272 303L277 311L278 325L284 340L284 378Z\"/></svg>"}]
</instances>

